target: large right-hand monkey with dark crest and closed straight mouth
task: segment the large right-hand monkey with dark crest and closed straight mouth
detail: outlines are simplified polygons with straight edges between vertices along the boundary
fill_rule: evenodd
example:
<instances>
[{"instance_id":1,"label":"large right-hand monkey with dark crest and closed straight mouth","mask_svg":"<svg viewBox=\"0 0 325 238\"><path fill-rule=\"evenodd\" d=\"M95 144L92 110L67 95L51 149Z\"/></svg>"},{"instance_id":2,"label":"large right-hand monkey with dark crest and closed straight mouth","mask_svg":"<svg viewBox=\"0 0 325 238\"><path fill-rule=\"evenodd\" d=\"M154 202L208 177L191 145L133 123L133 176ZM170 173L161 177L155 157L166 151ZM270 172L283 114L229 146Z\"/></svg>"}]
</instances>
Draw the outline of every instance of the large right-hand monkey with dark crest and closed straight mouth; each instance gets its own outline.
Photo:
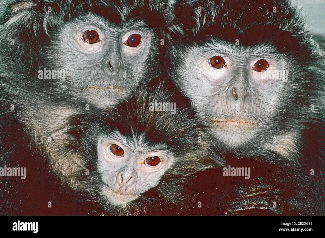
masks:
<instances>
[{"instance_id":1,"label":"large right-hand monkey with dark crest and closed straight mouth","mask_svg":"<svg viewBox=\"0 0 325 238\"><path fill-rule=\"evenodd\" d=\"M296 194L281 201L289 205L282 215L324 215L325 54L303 17L286 0L181 0L172 12L166 68L210 123L217 153L228 163L294 163L269 181L285 184L299 172L307 179L288 183Z\"/></svg>"}]
</instances>

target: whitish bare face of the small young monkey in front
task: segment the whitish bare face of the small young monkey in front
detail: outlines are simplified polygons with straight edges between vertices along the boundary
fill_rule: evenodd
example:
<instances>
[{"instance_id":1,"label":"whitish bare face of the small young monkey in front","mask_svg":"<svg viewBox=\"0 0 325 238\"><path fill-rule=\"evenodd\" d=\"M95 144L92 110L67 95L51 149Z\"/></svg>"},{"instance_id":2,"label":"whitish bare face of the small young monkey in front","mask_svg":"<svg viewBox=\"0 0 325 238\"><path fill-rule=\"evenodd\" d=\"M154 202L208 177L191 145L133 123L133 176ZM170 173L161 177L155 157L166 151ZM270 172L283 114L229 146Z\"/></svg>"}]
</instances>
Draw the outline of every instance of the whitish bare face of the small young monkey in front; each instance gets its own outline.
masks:
<instances>
[{"instance_id":1,"label":"whitish bare face of the small young monkey in front","mask_svg":"<svg viewBox=\"0 0 325 238\"><path fill-rule=\"evenodd\" d=\"M121 139L116 139L121 138ZM173 158L162 150L128 143L120 136L98 140L98 171L102 193L112 205L126 205L158 185Z\"/></svg>"}]
</instances>

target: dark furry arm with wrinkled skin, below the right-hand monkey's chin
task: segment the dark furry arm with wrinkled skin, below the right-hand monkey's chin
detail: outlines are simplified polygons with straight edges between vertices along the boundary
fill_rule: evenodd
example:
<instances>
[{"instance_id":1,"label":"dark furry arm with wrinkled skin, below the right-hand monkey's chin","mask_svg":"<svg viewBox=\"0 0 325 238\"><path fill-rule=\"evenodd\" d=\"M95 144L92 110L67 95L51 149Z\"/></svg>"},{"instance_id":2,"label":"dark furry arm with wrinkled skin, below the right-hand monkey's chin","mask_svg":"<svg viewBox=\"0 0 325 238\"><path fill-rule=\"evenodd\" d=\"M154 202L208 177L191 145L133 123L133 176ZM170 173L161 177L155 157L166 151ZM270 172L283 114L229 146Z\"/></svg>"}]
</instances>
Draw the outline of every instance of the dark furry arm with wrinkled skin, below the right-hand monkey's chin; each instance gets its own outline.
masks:
<instances>
[{"instance_id":1,"label":"dark furry arm with wrinkled skin, below the right-hand monkey's chin","mask_svg":"<svg viewBox=\"0 0 325 238\"><path fill-rule=\"evenodd\" d=\"M180 214L312 215L314 185L298 166L256 159L233 159L228 164L250 167L250 178L224 177L221 169L197 174L190 202L181 207Z\"/></svg>"}]
</instances>

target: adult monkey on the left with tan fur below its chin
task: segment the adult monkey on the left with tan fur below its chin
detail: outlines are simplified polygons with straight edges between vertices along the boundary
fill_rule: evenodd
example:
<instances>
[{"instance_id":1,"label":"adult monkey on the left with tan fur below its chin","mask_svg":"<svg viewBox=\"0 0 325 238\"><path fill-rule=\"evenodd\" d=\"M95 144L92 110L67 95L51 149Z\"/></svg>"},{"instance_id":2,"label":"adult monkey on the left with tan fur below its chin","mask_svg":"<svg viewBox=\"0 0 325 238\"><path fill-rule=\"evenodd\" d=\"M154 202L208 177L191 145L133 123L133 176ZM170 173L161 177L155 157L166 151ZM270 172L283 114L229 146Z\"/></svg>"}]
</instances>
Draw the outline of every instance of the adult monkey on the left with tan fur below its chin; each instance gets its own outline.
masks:
<instances>
[{"instance_id":1,"label":"adult monkey on the left with tan fur below its chin","mask_svg":"<svg viewBox=\"0 0 325 238\"><path fill-rule=\"evenodd\" d=\"M19 0L1 5L0 161L2 167L28 167L34 175L23 181L1 179L2 214L73 213L74 202L62 213L42 209L55 195L80 191L85 161L65 150L60 128L83 111L118 105L143 80L161 74L165 9L164 1ZM43 193L29 193L35 187ZM68 200L77 201L79 195ZM92 206L86 202L82 214Z\"/></svg>"}]
</instances>

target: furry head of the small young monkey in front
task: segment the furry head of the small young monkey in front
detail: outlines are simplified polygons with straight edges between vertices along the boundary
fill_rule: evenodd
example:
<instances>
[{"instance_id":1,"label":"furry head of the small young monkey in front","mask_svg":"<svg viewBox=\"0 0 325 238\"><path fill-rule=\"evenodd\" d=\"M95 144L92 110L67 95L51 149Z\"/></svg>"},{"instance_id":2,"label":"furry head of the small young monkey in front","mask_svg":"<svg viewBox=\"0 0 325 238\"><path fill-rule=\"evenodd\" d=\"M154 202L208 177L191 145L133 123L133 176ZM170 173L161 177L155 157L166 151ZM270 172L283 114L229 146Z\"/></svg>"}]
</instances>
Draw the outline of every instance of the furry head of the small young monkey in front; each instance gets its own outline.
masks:
<instances>
[{"instance_id":1,"label":"furry head of the small young monkey in front","mask_svg":"<svg viewBox=\"0 0 325 238\"><path fill-rule=\"evenodd\" d=\"M68 147L82 154L89 169L83 189L110 213L141 214L146 204L174 204L184 199L182 185L191 175L215 166L206 126L171 85L144 86L111 112L71 120Z\"/></svg>"}]
</instances>

